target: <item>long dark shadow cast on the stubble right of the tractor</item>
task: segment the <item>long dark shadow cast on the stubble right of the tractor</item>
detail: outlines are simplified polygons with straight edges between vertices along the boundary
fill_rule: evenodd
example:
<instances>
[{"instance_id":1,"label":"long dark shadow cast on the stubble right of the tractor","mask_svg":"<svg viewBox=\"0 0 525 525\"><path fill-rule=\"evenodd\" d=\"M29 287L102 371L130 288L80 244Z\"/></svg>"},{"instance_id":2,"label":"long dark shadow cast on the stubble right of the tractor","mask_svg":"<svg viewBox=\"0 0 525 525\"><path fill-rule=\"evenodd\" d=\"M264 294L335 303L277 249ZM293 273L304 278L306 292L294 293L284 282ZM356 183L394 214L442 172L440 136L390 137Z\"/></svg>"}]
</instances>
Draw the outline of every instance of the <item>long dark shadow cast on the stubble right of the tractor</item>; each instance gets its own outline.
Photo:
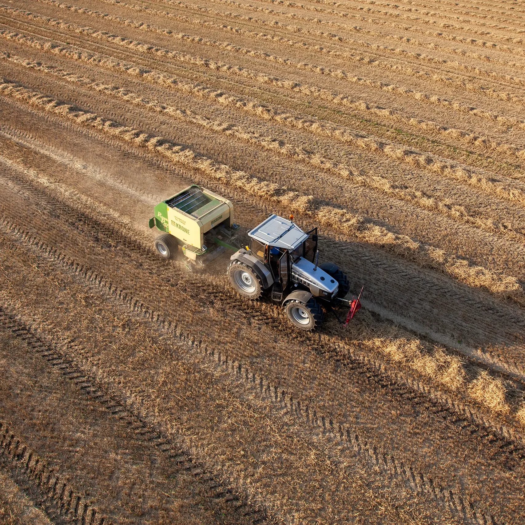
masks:
<instances>
[{"instance_id":1,"label":"long dark shadow cast on the stubble right of the tractor","mask_svg":"<svg viewBox=\"0 0 525 525\"><path fill-rule=\"evenodd\" d=\"M363 306L381 317L432 339L440 335L440 342L456 348L506 347L522 359L525 310L512 300L369 244L320 236L319 248L321 260L332 260L348 275L348 297L364 285Z\"/></svg>"}]
</instances>

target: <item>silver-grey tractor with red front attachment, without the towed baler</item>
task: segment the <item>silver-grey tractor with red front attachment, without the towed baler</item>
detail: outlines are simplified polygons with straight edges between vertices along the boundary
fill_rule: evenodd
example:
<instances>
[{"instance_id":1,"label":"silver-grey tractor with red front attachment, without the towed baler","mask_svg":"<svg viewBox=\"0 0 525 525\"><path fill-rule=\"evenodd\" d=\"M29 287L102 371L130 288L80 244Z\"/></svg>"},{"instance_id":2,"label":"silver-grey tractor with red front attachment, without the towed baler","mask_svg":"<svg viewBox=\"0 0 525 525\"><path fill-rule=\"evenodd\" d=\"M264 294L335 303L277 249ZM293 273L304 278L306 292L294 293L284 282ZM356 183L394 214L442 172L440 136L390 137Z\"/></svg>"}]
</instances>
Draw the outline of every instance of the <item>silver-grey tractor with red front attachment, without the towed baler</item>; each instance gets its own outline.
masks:
<instances>
[{"instance_id":1,"label":"silver-grey tractor with red front attachment, without the towed baler","mask_svg":"<svg viewBox=\"0 0 525 525\"><path fill-rule=\"evenodd\" d=\"M250 230L250 245L232 255L227 275L241 296L259 299L268 294L282 304L297 328L312 330L325 310L351 304L343 299L350 286L333 262L318 265L317 228L303 232L291 219L270 215ZM359 299L352 317L358 303Z\"/></svg>"}]
</instances>

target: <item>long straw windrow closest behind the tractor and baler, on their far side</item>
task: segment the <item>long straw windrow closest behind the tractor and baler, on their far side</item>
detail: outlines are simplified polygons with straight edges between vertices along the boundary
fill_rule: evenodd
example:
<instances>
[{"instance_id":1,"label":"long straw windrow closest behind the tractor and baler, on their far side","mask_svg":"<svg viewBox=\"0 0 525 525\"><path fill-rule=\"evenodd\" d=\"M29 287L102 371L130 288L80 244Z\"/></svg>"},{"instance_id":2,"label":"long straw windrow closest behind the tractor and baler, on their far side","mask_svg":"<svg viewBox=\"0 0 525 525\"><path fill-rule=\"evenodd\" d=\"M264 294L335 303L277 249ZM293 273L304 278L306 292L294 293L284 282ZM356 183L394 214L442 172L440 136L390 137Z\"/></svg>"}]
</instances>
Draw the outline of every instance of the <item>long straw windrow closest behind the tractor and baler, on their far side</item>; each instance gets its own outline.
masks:
<instances>
[{"instance_id":1,"label":"long straw windrow closest behind the tractor and baler, on their far side","mask_svg":"<svg viewBox=\"0 0 525 525\"><path fill-rule=\"evenodd\" d=\"M313 196L288 191L277 184L260 181L245 172L233 170L230 166L219 164L198 155L189 148L177 146L162 137L154 137L137 129L123 126L118 122L81 111L78 108L46 97L38 91L24 88L16 83L3 81L0 93L17 100L23 100L32 106L58 114L77 124L90 126L112 137L118 137L135 146L148 148L163 155L176 165L197 170L206 177L225 185L240 188L257 198L268 199L290 211L308 215L322 226L328 226L336 232L355 237L365 243L374 244L397 255L415 261L420 266L434 268L456 277L470 286L485 287L499 297L512 297L521 300L523 290L517 279L502 273L492 272L479 266L470 266L467 261L458 259L445 251L417 243L413 239L388 232L386 228L367 224L359 216L345 209L331 206L317 207Z\"/></svg>"}]
</instances>

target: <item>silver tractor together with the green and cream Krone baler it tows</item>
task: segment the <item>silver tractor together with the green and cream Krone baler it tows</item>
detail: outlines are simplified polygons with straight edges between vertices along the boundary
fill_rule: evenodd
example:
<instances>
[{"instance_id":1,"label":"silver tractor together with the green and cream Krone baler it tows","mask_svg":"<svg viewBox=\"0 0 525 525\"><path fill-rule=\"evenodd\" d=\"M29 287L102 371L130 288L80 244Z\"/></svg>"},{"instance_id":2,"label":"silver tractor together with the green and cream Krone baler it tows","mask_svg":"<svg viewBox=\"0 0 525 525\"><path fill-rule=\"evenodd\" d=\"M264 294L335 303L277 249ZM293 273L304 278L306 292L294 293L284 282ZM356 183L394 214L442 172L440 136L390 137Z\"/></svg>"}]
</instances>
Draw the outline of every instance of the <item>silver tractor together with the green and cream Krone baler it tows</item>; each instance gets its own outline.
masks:
<instances>
[{"instance_id":1,"label":"silver tractor together with the green and cream Krone baler it tows","mask_svg":"<svg viewBox=\"0 0 525 525\"><path fill-rule=\"evenodd\" d=\"M325 311L346 325L361 308L361 293L344 299L350 285L339 267L318 264L317 228L303 232L291 215L270 215L248 232L249 246L241 248L232 203L201 186L188 186L157 204L154 212L149 226L161 232L155 248L162 257L171 259L182 251L187 268L195 270L226 249L235 250L226 271L233 288L247 299L267 296L282 304L301 330L318 328ZM350 307L345 321L333 309L337 305Z\"/></svg>"}]
</instances>

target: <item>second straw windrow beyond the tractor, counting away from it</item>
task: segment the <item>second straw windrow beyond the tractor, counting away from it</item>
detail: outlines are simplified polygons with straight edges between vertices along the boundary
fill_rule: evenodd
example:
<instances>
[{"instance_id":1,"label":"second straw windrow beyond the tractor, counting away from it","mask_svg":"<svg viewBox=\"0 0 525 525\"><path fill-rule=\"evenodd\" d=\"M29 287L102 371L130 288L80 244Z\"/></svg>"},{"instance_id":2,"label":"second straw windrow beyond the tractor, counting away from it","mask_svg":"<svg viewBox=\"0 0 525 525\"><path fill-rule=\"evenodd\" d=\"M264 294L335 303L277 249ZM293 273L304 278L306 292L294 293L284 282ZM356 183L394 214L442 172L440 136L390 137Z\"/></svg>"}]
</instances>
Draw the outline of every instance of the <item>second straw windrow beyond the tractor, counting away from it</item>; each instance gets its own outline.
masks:
<instances>
[{"instance_id":1,"label":"second straw windrow beyond the tractor, counting away from it","mask_svg":"<svg viewBox=\"0 0 525 525\"><path fill-rule=\"evenodd\" d=\"M118 86L103 84L90 78L62 70L55 66L20 58L5 51L0 52L0 58L9 60L10 62L14 62L20 66L44 71L47 74L58 76L69 82L79 83L83 87L91 90L103 91L113 97L121 98L129 103L146 107L152 111L167 113L177 120L196 124L205 129L242 140L251 145L257 146L260 149L271 151L272 153L282 155L286 158L290 158L304 164L309 164L316 169L328 171L338 177L345 178L355 185L372 188L374 191L379 191L395 198L400 198L403 201L409 202L415 206L449 216L455 220L460 220L461 222L465 222L472 226L487 230L488 232L502 233L506 236L518 237L521 239L521 237L518 236L518 234L516 234L516 232L514 232L508 226L504 228L503 225L496 223L492 219L472 216L463 206L448 203L445 204L439 201L439 199L433 196L425 195L420 191L411 190L410 188L397 187L384 177L370 174L364 175L362 171L358 170L355 166L337 163L333 161L333 159L326 158L317 153L309 153L302 148L292 146L291 144L282 142L277 138L261 137L257 133L245 130L240 126L219 120L212 120L191 110L167 106L155 100L145 99Z\"/></svg>"}]
</instances>

